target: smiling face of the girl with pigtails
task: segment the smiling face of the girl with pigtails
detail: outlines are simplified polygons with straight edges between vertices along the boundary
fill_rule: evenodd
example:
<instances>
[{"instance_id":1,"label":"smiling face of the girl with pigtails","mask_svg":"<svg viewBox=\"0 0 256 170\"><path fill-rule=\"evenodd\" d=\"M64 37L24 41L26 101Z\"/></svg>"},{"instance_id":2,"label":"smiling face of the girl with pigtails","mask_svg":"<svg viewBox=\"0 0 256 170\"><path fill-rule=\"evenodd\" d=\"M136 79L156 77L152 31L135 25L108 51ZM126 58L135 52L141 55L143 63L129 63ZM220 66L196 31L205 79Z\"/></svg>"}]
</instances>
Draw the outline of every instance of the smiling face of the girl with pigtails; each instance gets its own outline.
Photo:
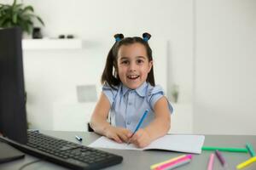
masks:
<instances>
[{"instance_id":1,"label":"smiling face of the girl with pigtails","mask_svg":"<svg viewBox=\"0 0 256 170\"><path fill-rule=\"evenodd\" d=\"M153 65L148 61L146 48L141 43L122 45L118 52L118 75L127 88L139 88L146 82Z\"/></svg>"}]
</instances>

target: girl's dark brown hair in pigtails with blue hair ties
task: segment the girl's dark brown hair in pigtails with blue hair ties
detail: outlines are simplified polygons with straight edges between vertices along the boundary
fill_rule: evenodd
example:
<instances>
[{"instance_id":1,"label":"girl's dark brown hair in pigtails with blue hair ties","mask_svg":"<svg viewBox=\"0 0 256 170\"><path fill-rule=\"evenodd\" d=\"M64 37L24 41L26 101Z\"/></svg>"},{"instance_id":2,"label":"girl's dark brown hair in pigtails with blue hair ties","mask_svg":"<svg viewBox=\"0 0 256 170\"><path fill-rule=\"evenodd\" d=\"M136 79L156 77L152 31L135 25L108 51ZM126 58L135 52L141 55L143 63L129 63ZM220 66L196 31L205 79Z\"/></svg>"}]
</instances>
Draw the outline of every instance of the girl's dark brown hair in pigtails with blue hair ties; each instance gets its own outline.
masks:
<instances>
[{"instance_id":1,"label":"girl's dark brown hair in pigtails with blue hair ties","mask_svg":"<svg viewBox=\"0 0 256 170\"><path fill-rule=\"evenodd\" d=\"M118 86L121 82L118 76L118 52L119 48L122 45L131 45L133 43L141 43L146 48L148 60L152 61L152 50L148 45L148 39L151 37L148 33L143 33L142 37L125 37L123 34L116 34L114 35L114 38L116 39L116 42L114 42L113 47L108 52L108 57L106 60L106 65L104 68L104 71L102 73L102 84L107 83L111 88L114 88L114 86ZM114 68L114 71L113 71ZM148 72L148 77L146 82L149 82L152 86L154 86L154 70L153 65L151 70Z\"/></svg>"}]
</instances>

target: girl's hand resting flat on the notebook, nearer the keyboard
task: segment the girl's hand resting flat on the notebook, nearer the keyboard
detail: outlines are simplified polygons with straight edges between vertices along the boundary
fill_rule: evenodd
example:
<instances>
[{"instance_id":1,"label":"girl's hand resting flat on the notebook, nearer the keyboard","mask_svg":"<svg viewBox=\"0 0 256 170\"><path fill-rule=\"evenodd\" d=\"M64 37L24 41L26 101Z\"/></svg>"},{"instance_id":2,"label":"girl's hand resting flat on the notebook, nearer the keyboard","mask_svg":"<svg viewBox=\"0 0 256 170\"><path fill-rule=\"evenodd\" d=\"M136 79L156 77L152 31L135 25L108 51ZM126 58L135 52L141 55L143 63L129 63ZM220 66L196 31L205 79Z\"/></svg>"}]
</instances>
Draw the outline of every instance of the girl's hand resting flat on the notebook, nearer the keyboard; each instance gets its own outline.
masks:
<instances>
[{"instance_id":1,"label":"girl's hand resting flat on the notebook, nearer the keyboard","mask_svg":"<svg viewBox=\"0 0 256 170\"><path fill-rule=\"evenodd\" d=\"M131 136L131 131L123 127L109 126L104 130L104 134L108 139L120 143L127 142Z\"/></svg>"}]
</instances>

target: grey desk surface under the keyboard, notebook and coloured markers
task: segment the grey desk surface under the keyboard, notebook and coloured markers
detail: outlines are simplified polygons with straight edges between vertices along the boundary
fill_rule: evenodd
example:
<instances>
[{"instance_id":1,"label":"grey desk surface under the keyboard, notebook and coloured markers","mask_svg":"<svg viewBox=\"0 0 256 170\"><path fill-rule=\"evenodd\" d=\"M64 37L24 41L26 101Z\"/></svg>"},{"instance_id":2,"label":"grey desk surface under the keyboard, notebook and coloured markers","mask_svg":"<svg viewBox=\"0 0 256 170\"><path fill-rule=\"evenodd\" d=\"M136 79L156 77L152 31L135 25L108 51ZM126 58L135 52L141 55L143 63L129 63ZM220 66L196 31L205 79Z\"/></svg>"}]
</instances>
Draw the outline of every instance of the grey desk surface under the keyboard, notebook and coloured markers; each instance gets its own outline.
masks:
<instances>
[{"instance_id":1,"label":"grey desk surface under the keyboard, notebook and coloured markers","mask_svg":"<svg viewBox=\"0 0 256 170\"><path fill-rule=\"evenodd\" d=\"M83 138L83 142L80 144L88 145L100 136L96 133L88 133L88 132L56 132L56 131L42 131L42 133L49 134L61 139L67 139L69 141L79 143L78 140L75 139L75 135L79 135ZM253 144L254 150L256 150L256 136L251 135L206 135L204 145L207 146L219 146L219 147L245 147L245 144L249 142ZM172 157L180 156L182 153L176 153L171 151L163 151L163 150L106 150L108 152L112 152L119 156L123 156L124 160L119 165L108 167L106 169L109 170L131 170L131 169L149 169L150 165L154 163L158 163L160 161L166 161ZM202 151L201 155L194 155L193 160L186 166L179 167L181 170L204 170L207 169L207 163L210 154L212 151ZM236 165L241 161L246 161L251 156L249 153L237 153L237 152L223 152L224 157L226 158L229 169L236 169ZM38 160L37 157L26 155L25 159L12 161L9 163L0 164L1 170L10 170L10 169L19 169L22 165L30 162ZM29 169L40 169L40 170L51 170L51 169L66 169L64 167L60 167L48 161L39 161L25 168ZM215 159L213 169L224 169L221 167L218 159ZM253 163L251 166L244 168L244 170L255 170L256 163Z\"/></svg>"}]
</instances>

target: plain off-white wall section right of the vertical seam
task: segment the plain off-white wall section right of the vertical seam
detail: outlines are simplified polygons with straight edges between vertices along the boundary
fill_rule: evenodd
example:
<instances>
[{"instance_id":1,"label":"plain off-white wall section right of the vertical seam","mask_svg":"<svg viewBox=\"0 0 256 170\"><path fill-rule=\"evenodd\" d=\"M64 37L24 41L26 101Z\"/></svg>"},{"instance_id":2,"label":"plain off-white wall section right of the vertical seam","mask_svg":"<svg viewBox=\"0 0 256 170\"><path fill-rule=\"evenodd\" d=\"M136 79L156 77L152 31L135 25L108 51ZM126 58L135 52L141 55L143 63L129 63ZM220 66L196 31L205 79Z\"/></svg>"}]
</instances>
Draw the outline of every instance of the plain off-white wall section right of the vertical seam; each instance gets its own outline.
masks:
<instances>
[{"instance_id":1,"label":"plain off-white wall section right of the vertical seam","mask_svg":"<svg viewBox=\"0 0 256 170\"><path fill-rule=\"evenodd\" d=\"M256 1L195 1L196 133L256 134Z\"/></svg>"}]
</instances>

